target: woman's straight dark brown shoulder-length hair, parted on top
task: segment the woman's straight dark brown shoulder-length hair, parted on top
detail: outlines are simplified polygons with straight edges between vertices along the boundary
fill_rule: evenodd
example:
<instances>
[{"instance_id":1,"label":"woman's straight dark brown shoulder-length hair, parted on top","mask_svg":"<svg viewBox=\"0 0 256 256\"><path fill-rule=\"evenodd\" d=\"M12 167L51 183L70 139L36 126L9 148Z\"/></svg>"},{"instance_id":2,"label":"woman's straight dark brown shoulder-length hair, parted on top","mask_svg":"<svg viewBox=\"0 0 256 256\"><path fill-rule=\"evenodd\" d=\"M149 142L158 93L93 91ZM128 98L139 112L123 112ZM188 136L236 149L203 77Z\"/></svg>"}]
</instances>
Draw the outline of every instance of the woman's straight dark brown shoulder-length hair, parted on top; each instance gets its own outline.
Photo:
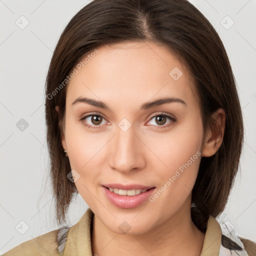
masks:
<instances>
[{"instance_id":1,"label":"woman's straight dark brown shoulder-length hair, parted on top","mask_svg":"<svg viewBox=\"0 0 256 256\"><path fill-rule=\"evenodd\" d=\"M223 211L233 185L243 124L224 46L210 22L186 0L93 0L80 9L63 30L52 55L45 86L47 144L57 221L65 221L72 196L78 193L75 184L67 178L70 164L61 144L67 88L62 81L81 57L97 46L124 41L164 45L185 63L195 80L204 132L213 127L211 114L220 107L225 111L223 142L214 155L201 158L192 189L192 202L196 205L191 208L192 220L204 231L208 216L216 217ZM63 86L56 91L61 83Z\"/></svg>"}]
</instances>

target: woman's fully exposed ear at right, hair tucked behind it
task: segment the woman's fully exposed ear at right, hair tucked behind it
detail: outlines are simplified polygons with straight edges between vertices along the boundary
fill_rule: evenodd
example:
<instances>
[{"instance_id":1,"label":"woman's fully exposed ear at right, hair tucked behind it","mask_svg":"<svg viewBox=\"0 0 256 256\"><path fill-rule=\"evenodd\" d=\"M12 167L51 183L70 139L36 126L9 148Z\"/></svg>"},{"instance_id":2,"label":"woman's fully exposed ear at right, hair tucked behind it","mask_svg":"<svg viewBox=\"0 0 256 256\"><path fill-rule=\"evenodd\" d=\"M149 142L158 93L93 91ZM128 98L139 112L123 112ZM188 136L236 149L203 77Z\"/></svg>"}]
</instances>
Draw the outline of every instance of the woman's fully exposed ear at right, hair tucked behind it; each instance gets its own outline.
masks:
<instances>
[{"instance_id":1,"label":"woman's fully exposed ear at right, hair tucked behind it","mask_svg":"<svg viewBox=\"0 0 256 256\"><path fill-rule=\"evenodd\" d=\"M222 108L217 109L213 114L212 118L215 119L215 124L209 130L207 130L203 146L202 156L213 155L220 147L225 130L225 111Z\"/></svg>"}]
</instances>

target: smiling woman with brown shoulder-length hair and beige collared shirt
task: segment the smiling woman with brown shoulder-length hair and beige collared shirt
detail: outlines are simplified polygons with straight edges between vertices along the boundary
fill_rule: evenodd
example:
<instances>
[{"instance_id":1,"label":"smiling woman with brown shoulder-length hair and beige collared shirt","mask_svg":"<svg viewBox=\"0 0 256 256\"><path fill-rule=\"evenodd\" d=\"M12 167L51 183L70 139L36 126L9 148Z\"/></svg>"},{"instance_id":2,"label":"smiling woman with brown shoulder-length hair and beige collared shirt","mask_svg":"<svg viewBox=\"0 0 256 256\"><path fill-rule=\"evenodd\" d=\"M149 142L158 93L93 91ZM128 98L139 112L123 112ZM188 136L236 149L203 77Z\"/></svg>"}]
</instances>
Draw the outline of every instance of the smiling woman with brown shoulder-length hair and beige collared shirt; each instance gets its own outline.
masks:
<instances>
[{"instance_id":1,"label":"smiling woman with brown shoulder-length hair and beige collared shirt","mask_svg":"<svg viewBox=\"0 0 256 256\"><path fill-rule=\"evenodd\" d=\"M94 0L67 24L46 79L56 218L73 226L4 255L255 255L222 233L243 141L224 46L186 0Z\"/></svg>"}]
</instances>

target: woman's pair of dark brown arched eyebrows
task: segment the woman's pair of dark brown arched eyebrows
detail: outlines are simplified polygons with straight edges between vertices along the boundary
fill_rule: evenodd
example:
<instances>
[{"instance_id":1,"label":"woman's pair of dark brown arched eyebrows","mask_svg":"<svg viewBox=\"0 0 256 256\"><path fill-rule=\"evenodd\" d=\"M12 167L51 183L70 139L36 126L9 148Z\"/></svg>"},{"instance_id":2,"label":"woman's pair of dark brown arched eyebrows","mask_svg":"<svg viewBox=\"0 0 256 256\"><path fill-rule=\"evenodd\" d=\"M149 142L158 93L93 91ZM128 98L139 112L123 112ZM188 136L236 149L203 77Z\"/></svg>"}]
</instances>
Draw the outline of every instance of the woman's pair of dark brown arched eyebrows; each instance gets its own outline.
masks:
<instances>
[{"instance_id":1,"label":"woman's pair of dark brown arched eyebrows","mask_svg":"<svg viewBox=\"0 0 256 256\"><path fill-rule=\"evenodd\" d=\"M84 103L88 103L88 104L96 106L96 107L110 110L110 108L104 102L102 102L100 100L95 100L95 99L91 99L91 98L87 98L87 97L78 97L73 101L72 105L76 104L78 102L84 102ZM154 106L158 106L158 105L162 105L162 104L166 104L166 103L170 103L170 102L179 102L179 103L186 105L186 102L180 98L164 97L164 98L159 98L154 101L146 102L146 103L142 104L140 106L140 110L148 109L150 107L154 107Z\"/></svg>"}]
</instances>

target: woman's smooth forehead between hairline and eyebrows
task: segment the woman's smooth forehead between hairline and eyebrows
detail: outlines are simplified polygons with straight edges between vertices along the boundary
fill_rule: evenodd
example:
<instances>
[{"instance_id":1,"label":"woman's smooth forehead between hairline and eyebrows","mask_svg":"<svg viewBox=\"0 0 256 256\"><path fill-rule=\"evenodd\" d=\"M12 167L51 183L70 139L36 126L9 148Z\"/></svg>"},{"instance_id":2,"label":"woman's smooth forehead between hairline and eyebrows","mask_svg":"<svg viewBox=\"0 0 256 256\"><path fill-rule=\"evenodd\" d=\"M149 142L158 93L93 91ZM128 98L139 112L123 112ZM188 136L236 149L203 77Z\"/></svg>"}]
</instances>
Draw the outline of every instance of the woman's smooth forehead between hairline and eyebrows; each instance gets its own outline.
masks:
<instances>
[{"instance_id":1,"label":"woman's smooth forehead between hairline and eyebrows","mask_svg":"<svg viewBox=\"0 0 256 256\"><path fill-rule=\"evenodd\" d=\"M68 104L79 96L98 97L109 104L119 100L127 106L128 102L165 96L193 103L191 76L166 47L152 42L122 42L101 45L97 50L76 68L78 72L67 86Z\"/></svg>"}]
</instances>

